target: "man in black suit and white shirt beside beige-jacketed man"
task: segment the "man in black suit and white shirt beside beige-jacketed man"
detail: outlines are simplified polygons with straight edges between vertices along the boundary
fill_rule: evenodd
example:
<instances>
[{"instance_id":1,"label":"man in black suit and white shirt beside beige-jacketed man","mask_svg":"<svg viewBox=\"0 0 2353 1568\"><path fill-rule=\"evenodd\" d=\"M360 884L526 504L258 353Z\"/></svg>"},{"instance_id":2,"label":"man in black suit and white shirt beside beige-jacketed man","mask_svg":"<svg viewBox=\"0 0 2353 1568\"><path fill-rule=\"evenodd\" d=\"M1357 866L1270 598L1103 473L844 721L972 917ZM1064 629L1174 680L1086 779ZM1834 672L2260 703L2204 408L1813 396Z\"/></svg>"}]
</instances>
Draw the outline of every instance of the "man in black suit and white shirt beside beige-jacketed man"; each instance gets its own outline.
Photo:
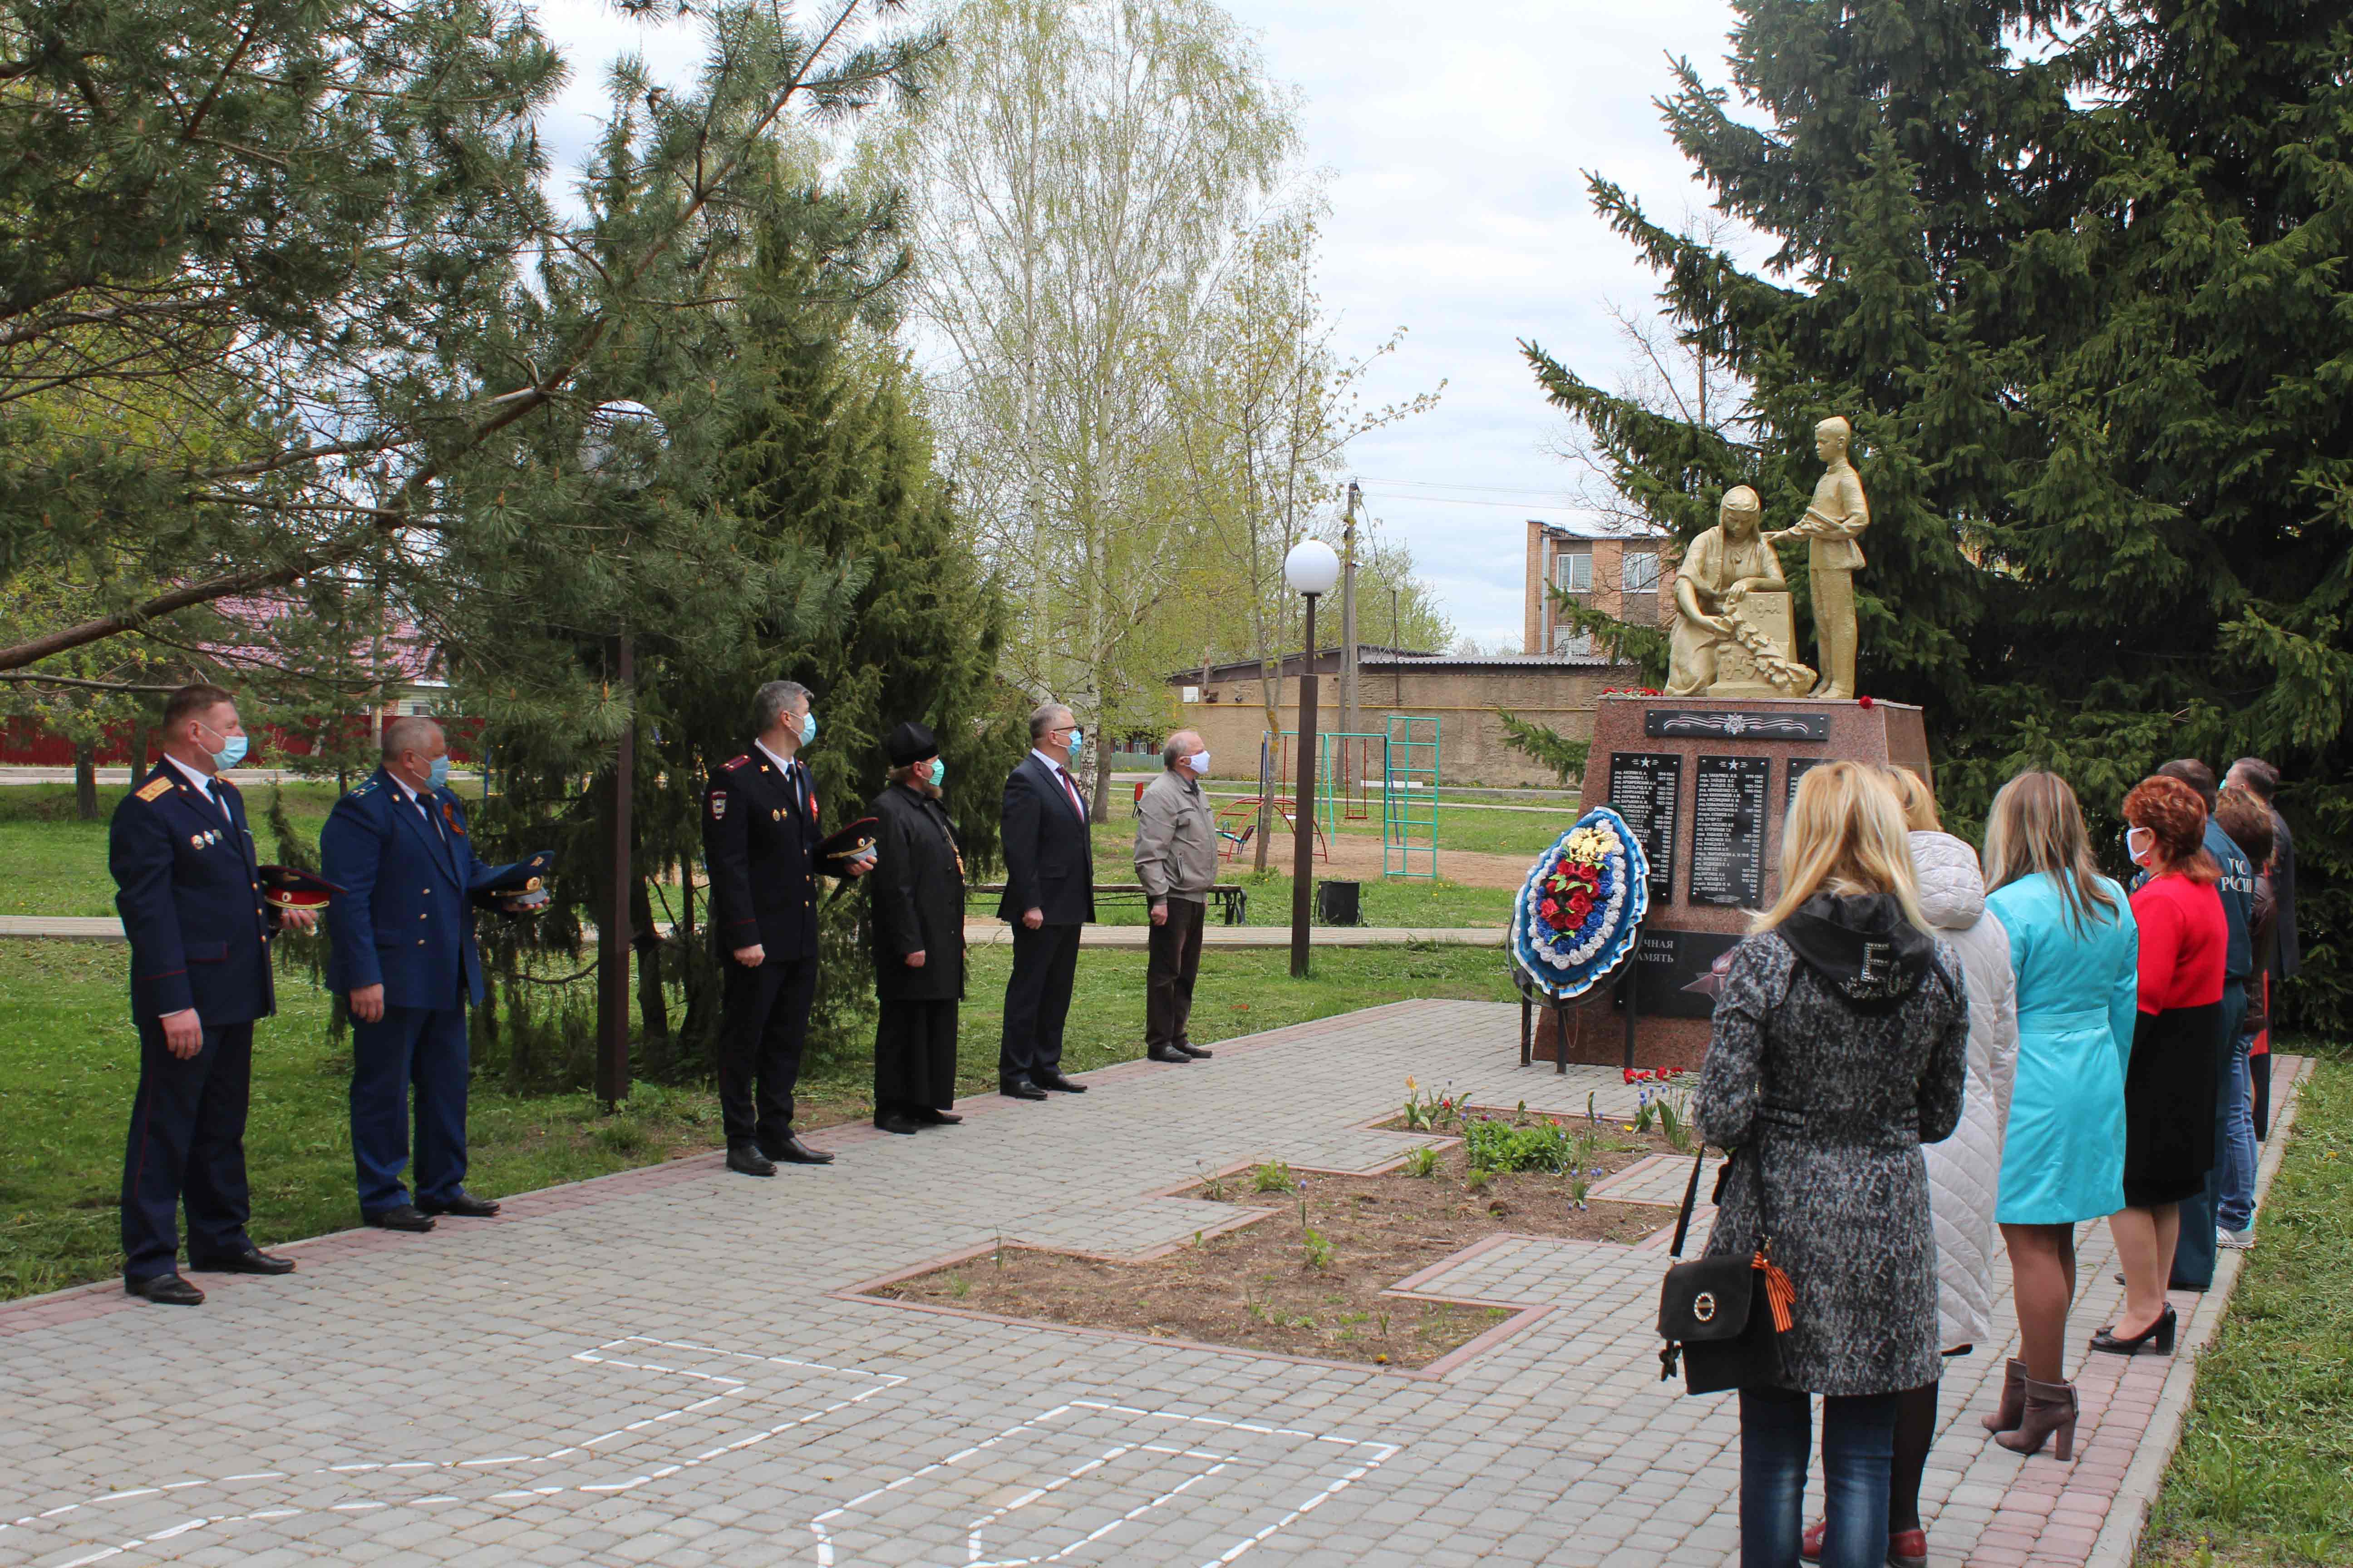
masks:
<instances>
[{"instance_id":1,"label":"man in black suit and white shirt beside beige-jacketed man","mask_svg":"<svg viewBox=\"0 0 2353 1568\"><path fill-rule=\"evenodd\" d=\"M1047 703L1031 715L1031 755L1005 780L998 919L1014 926L1014 973L1005 980L998 1093L1014 1100L1042 1100L1047 1088L1087 1093L1061 1074L1078 931L1094 919L1094 842L1087 799L1071 778L1071 757L1082 743L1071 710Z\"/></svg>"}]
</instances>

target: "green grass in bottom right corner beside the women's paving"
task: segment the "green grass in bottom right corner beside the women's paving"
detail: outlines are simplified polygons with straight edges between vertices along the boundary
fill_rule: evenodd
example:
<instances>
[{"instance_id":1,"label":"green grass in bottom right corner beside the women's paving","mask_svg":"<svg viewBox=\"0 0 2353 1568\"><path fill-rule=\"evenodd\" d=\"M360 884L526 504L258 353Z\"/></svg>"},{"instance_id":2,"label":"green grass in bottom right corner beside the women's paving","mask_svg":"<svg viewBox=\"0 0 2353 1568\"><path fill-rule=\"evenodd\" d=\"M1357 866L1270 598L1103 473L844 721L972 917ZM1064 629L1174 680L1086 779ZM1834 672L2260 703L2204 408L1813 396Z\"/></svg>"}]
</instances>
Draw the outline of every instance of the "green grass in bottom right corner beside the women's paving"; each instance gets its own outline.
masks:
<instances>
[{"instance_id":1,"label":"green grass in bottom right corner beside the women's paving","mask_svg":"<svg viewBox=\"0 0 2353 1568\"><path fill-rule=\"evenodd\" d=\"M2141 1568L2353 1563L2353 1063L2322 1058Z\"/></svg>"}]
</instances>

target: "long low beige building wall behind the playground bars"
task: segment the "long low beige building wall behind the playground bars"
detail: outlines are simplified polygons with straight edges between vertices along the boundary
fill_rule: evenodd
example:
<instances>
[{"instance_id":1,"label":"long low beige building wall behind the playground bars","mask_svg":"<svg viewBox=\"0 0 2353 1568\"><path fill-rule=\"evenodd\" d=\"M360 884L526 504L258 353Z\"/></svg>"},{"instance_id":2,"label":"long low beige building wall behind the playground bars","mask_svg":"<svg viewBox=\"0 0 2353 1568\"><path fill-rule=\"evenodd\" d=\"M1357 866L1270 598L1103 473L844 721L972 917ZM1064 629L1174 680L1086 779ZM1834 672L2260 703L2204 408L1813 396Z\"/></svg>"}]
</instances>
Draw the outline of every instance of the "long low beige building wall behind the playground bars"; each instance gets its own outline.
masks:
<instances>
[{"instance_id":1,"label":"long low beige building wall behind the playground bars","mask_svg":"<svg viewBox=\"0 0 2353 1568\"><path fill-rule=\"evenodd\" d=\"M1360 729L1379 733L1388 715L1438 719L1440 788L1485 785L1560 785L1560 778L1504 741L1497 708L1558 729L1572 738L1593 733L1593 698L1607 686L1635 684L1635 670L1609 665L1452 665L1442 670L1391 672L1369 668L1358 677L1362 701ZM1257 780L1259 736L1266 710L1259 705L1257 679L1226 679L1205 696L1217 701L1186 703L1184 724L1209 741L1212 776ZM1339 729L1339 677L1318 677L1318 731ZM1280 729L1299 729L1299 684L1282 682ZM1297 778L1299 762L1287 762ZM1574 780L1572 785L1574 788Z\"/></svg>"}]
</instances>

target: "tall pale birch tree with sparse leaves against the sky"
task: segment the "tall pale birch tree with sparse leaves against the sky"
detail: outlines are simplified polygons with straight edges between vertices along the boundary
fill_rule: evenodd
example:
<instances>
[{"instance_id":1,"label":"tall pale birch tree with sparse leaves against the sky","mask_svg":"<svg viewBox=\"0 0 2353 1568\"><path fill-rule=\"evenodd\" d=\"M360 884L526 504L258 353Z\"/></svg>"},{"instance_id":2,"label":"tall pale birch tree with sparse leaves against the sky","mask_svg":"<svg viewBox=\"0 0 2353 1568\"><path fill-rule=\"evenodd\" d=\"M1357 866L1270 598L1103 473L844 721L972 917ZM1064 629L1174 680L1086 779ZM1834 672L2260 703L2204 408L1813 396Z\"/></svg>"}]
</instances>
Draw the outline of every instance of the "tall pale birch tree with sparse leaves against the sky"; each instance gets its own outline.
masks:
<instances>
[{"instance_id":1,"label":"tall pale birch tree with sparse leaves against the sky","mask_svg":"<svg viewBox=\"0 0 2353 1568\"><path fill-rule=\"evenodd\" d=\"M1141 628L1191 545L1172 364L1299 148L1294 96L1207 0L967 0L913 125L920 329L1007 675L1089 722L1162 670Z\"/></svg>"}]
</instances>

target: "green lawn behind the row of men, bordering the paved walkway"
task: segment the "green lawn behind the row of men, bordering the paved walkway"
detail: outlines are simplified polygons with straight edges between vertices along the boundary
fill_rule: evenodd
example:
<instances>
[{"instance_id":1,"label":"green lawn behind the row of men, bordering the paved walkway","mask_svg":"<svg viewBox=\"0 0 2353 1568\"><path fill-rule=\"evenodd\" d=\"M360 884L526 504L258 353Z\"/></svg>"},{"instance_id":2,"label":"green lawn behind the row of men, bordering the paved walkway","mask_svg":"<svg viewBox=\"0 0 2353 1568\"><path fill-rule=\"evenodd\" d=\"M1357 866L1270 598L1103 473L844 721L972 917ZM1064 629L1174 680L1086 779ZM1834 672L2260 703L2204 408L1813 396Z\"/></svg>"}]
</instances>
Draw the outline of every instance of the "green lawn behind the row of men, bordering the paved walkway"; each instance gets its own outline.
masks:
<instances>
[{"instance_id":1,"label":"green lawn behind the row of men, bordering the paved walkway","mask_svg":"<svg viewBox=\"0 0 2353 1568\"><path fill-rule=\"evenodd\" d=\"M0 1300L106 1279L120 1267L115 1192L139 1048L125 1006L127 950L0 943ZM958 1044L965 1093L995 1088L1005 947L974 952ZM1497 952L1327 950L1311 980L1285 952L1212 952L1193 1001L1202 1044L1409 997L1508 1001ZM247 1166L264 1246L358 1222L346 1091L348 1046L327 1039L327 997L280 976L280 1016L254 1030ZM1144 954L1080 957L1064 1041L1071 1072L1144 1053ZM816 1065L805 1124L871 1114L868 1060ZM468 1190L506 1197L720 1145L706 1086L642 1084L619 1114L588 1095L513 1095L475 1081Z\"/></svg>"}]
</instances>

